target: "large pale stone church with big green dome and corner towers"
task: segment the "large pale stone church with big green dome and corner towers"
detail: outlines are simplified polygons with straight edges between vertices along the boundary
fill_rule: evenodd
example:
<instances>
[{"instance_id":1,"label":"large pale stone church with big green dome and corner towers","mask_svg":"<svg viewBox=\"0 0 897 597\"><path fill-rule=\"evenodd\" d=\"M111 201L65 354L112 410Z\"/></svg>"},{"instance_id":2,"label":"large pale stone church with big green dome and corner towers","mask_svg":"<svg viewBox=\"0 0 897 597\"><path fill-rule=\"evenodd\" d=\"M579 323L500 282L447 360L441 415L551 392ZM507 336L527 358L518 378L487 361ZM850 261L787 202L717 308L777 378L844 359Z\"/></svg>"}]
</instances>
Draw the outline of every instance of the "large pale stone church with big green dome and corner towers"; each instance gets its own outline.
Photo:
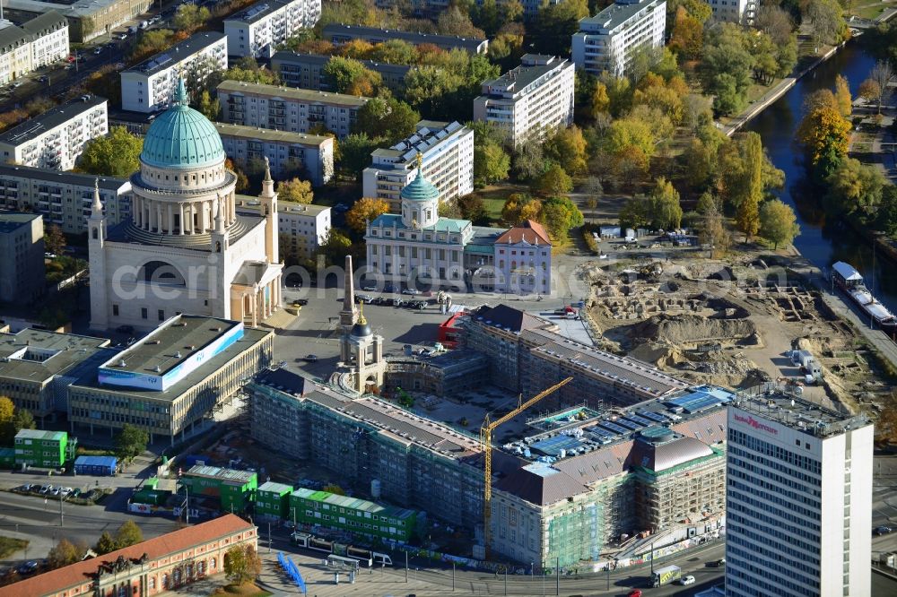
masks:
<instances>
[{"instance_id":1,"label":"large pale stone church with big green dome and corner towers","mask_svg":"<svg viewBox=\"0 0 897 597\"><path fill-rule=\"evenodd\" d=\"M189 313L256 326L281 303L277 195L270 169L261 215L237 213L221 136L189 107L184 80L144 138L130 221L108 227L99 192L88 218L91 329L150 330Z\"/></svg>"}]
</instances>

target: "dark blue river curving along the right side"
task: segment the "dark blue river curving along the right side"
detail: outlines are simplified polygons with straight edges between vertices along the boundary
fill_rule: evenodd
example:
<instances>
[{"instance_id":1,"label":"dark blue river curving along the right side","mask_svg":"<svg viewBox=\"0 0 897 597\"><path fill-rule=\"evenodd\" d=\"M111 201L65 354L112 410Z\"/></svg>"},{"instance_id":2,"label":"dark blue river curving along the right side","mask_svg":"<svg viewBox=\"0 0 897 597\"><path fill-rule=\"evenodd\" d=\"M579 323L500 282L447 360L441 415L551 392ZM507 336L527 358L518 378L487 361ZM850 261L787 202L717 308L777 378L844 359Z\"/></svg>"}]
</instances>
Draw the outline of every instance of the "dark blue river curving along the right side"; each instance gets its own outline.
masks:
<instances>
[{"instance_id":1,"label":"dark blue river curving along the right side","mask_svg":"<svg viewBox=\"0 0 897 597\"><path fill-rule=\"evenodd\" d=\"M782 201L797 212L800 236L794 244L801 255L819 268L831 268L836 261L853 265L863 274L867 286L875 283L875 296L897 312L897 276L889 275L895 264L880 256L874 260L872 247L867 242L837 219L827 218L820 209L819 197L803 185L806 170L801 148L794 140L808 94L820 89L833 90L835 77L842 74L848 79L851 94L856 96L859 83L867 78L873 65L875 59L864 51L861 41L850 42L812 73L806 74L788 93L745 125L744 130L762 136L763 147L772 163L785 172L785 188L780 195Z\"/></svg>"}]
</instances>

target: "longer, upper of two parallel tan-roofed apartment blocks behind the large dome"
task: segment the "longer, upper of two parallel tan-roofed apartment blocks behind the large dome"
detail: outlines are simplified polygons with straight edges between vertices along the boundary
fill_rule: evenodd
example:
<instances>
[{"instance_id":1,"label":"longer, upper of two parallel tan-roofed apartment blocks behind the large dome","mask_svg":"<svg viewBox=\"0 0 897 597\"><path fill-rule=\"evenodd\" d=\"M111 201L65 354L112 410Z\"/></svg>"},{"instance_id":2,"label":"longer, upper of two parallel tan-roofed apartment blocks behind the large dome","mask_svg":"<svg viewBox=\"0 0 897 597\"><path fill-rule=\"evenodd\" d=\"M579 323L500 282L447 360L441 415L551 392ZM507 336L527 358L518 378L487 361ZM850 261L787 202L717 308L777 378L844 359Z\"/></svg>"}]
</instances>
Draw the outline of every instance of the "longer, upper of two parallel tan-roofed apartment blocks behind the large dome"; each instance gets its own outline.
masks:
<instances>
[{"instance_id":1,"label":"longer, upper of two parallel tan-roofed apartment blocks behind the large dome","mask_svg":"<svg viewBox=\"0 0 897 597\"><path fill-rule=\"evenodd\" d=\"M352 132L358 108L368 100L343 93L238 81L218 85L224 122L292 133L308 133L312 127L324 125L340 138Z\"/></svg>"}]
</instances>

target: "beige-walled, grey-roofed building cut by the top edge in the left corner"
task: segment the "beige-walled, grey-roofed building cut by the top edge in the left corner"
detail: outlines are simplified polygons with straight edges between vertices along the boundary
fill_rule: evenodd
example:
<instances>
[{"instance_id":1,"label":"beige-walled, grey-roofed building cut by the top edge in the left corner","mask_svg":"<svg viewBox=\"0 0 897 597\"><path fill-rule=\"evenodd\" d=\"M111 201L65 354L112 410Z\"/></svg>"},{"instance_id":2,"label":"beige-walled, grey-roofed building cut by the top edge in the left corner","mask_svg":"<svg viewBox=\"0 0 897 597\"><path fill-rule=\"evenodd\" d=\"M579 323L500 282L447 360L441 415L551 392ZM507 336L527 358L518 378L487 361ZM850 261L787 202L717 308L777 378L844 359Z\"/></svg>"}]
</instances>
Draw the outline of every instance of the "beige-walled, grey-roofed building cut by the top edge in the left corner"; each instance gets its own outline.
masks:
<instances>
[{"instance_id":1,"label":"beige-walled, grey-roofed building cut by the top edge in the left corner","mask_svg":"<svg viewBox=\"0 0 897 597\"><path fill-rule=\"evenodd\" d=\"M119 25L148 12L151 4L151 0L4 0L3 7L7 18L22 21L48 11L60 13L68 21L72 41L85 42L109 35Z\"/></svg>"}]
</instances>

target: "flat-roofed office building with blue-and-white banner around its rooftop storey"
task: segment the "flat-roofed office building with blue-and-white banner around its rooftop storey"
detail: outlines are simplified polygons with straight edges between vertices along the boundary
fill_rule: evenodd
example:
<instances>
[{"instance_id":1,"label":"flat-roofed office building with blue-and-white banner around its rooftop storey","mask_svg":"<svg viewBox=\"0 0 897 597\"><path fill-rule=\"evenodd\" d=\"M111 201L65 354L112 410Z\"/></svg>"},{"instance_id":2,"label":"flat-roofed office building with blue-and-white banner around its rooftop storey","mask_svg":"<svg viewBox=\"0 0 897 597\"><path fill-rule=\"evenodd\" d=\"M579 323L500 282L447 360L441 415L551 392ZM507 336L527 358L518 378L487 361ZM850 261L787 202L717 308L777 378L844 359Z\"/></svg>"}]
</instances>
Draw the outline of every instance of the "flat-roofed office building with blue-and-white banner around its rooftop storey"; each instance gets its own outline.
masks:
<instances>
[{"instance_id":1,"label":"flat-roofed office building with blue-and-white banner around its rooftop storey","mask_svg":"<svg viewBox=\"0 0 897 597\"><path fill-rule=\"evenodd\" d=\"M129 423L144 428L151 442L161 436L174 444L178 434L183 439L211 426L213 410L271 363L273 344L271 330L216 317L172 316L69 386L72 431L93 435L99 428L111 437Z\"/></svg>"}]
</instances>

